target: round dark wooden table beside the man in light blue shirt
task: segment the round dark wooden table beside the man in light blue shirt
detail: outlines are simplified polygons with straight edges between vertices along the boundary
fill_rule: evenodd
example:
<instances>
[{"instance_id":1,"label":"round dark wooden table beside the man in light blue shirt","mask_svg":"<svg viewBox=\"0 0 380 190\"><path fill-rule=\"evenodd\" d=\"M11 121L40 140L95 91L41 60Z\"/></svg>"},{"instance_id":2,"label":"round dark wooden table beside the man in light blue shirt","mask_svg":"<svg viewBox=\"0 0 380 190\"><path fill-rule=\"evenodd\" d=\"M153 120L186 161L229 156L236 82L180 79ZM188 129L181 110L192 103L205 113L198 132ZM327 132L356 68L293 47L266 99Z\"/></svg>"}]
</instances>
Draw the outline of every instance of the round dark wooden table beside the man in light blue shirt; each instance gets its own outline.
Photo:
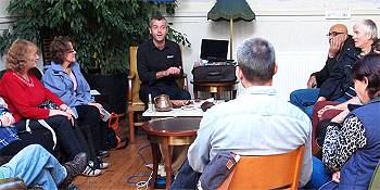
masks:
<instances>
[{"instance_id":1,"label":"round dark wooden table beside the man in light blue shirt","mask_svg":"<svg viewBox=\"0 0 380 190\"><path fill-rule=\"evenodd\" d=\"M174 145L191 144L197 136L197 130L202 117L173 117L159 118L144 123L142 129L147 131L153 157L153 186L157 177L160 161L159 144L161 144L166 172L166 189L172 185L172 149Z\"/></svg>"}]
</instances>

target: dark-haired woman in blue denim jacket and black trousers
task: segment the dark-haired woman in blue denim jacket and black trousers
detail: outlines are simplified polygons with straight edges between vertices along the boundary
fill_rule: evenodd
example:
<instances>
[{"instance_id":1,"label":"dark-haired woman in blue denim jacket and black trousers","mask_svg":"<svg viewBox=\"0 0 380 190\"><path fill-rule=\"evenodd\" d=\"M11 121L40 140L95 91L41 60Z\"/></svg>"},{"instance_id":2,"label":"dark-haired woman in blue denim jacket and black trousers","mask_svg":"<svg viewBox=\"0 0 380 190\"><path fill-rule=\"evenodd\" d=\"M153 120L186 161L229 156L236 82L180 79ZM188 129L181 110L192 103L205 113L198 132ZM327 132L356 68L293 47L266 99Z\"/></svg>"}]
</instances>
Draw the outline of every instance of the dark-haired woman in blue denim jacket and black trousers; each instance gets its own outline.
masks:
<instances>
[{"instance_id":1,"label":"dark-haired woman in blue denim jacket and black trousers","mask_svg":"<svg viewBox=\"0 0 380 190\"><path fill-rule=\"evenodd\" d=\"M74 112L78 127L85 135L90 150L90 160L96 169L105 169L109 163L102 157L109 156L105 151L107 123L102 121L105 110L90 94L90 87L76 62L76 51L67 36L55 37L50 51L53 61L45 66L42 83L64 101ZM91 164L91 165L92 165Z\"/></svg>"}]
</instances>

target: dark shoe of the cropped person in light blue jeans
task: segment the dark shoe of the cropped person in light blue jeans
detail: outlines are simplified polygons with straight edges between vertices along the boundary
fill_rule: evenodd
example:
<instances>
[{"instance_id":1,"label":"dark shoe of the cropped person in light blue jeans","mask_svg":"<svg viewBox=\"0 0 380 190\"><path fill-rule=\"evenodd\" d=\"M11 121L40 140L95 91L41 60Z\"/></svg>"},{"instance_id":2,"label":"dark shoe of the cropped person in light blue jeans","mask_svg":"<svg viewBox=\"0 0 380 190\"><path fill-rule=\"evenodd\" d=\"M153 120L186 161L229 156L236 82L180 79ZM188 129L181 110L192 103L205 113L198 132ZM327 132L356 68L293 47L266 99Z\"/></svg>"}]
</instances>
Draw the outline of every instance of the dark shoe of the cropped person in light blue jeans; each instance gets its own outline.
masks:
<instances>
[{"instance_id":1,"label":"dark shoe of the cropped person in light blue jeans","mask_svg":"<svg viewBox=\"0 0 380 190\"><path fill-rule=\"evenodd\" d=\"M64 179L63 183L69 185L73 179L81 174L87 166L87 154L85 152L80 152L75 155L74 160L64 164L66 168L67 176Z\"/></svg>"}]
</instances>

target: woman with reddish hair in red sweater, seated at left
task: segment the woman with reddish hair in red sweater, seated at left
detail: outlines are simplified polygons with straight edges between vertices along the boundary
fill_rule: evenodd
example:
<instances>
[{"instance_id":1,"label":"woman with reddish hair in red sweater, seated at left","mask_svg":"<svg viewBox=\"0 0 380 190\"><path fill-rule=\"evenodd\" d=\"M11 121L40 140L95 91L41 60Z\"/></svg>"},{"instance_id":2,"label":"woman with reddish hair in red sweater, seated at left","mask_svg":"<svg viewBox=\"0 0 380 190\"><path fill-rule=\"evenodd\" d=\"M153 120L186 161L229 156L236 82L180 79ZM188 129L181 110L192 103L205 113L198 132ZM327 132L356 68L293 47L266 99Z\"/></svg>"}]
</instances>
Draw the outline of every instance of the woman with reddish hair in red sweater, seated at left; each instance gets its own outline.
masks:
<instances>
[{"instance_id":1,"label":"woman with reddish hair in red sweater, seated at left","mask_svg":"<svg viewBox=\"0 0 380 190\"><path fill-rule=\"evenodd\" d=\"M12 43L5 55L9 69L0 79L0 97L14 117L17 132L48 128L60 150L68 160L73 160L78 153L86 152L86 148L79 142L73 127L73 111L29 73L36 67L38 58L38 48L33 42L17 39ZM47 101L55 103L58 107L39 107Z\"/></svg>"}]
</instances>

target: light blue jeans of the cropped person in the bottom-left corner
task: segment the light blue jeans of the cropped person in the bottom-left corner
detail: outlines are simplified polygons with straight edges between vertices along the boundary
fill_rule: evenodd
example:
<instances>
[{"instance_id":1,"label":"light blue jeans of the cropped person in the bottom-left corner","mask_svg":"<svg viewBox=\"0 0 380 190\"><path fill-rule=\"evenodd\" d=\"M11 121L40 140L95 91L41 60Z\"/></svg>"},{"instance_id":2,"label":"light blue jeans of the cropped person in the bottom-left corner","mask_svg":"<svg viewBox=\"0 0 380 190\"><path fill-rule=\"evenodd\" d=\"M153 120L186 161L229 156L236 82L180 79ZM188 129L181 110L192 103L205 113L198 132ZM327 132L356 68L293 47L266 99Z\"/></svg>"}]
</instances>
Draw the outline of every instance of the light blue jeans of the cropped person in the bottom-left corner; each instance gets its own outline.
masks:
<instances>
[{"instance_id":1,"label":"light blue jeans of the cropped person in the bottom-left corner","mask_svg":"<svg viewBox=\"0 0 380 190\"><path fill-rule=\"evenodd\" d=\"M55 190L67 176L65 167L39 144L20 151L9 163L0 166L0 173L4 178L21 178L28 187L40 186L49 190Z\"/></svg>"}]
</instances>

